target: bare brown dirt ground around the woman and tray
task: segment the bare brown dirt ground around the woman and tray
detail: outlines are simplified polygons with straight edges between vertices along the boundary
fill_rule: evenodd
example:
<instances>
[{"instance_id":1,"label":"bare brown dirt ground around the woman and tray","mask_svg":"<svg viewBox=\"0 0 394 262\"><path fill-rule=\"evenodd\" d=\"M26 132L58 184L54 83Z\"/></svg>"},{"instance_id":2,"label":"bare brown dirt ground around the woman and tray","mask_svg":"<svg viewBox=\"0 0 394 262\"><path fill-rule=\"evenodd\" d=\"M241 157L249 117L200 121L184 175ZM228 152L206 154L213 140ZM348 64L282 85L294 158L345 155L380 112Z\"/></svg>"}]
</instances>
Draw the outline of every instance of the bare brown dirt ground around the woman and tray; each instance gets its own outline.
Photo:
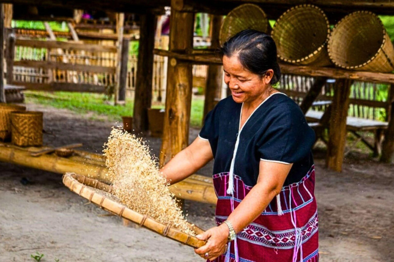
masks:
<instances>
[{"instance_id":1,"label":"bare brown dirt ground around the woman and tray","mask_svg":"<svg viewBox=\"0 0 394 262\"><path fill-rule=\"evenodd\" d=\"M45 143L84 143L100 152L111 126L67 110L29 104L44 111ZM190 130L190 140L199 130ZM146 137L154 154L160 139ZM348 154L342 173L324 168L315 150L321 261L394 261L394 166L366 154ZM212 163L200 174L209 176ZM28 182L24 185L22 182ZM61 175L0 163L0 261L203 261L193 249L136 226L71 192ZM214 226L214 207L186 202L189 221Z\"/></svg>"}]
</instances>

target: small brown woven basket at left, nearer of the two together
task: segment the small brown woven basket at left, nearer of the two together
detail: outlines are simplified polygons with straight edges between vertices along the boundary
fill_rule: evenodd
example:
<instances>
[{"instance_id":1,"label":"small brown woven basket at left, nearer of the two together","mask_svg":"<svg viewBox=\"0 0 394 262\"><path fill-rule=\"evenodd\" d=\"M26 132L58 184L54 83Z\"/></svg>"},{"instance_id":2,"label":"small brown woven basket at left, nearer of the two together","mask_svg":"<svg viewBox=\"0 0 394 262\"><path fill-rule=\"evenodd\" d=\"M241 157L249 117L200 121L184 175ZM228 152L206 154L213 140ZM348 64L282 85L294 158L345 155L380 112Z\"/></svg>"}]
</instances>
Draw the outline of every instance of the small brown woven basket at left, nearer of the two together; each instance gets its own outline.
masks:
<instances>
[{"instance_id":1,"label":"small brown woven basket at left, nearer of the two together","mask_svg":"<svg viewBox=\"0 0 394 262\"><path fill-rule=\"evenodd\" d=\"M17 146L43 145L43 113L11 113L12 143Z\"/></svg>"}]
</instances>

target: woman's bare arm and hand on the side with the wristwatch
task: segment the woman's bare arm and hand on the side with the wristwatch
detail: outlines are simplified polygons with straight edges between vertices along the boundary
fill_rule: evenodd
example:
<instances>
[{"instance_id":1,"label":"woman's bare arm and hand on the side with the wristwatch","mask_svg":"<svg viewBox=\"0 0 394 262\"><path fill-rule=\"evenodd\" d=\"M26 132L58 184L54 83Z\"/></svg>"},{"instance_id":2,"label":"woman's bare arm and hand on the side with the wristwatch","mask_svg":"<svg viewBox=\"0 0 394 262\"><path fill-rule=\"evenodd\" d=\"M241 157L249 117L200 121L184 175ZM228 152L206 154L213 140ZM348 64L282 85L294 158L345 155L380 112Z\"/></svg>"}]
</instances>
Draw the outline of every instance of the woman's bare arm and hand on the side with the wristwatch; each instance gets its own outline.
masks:
<instances>
[{"instance_id":1,"label":"woman's bare arm and hand on the side with the wristwatch","mask_svg":"<svg viewBox=\"0 0 394 262\"><path fill-rule=\"evenodd\" d=\"M257 184L228 217L228 221L233 226L235 233L239 233L257 219L272 199L280 193L291 166L292 164L260 161ZM228 234L229 229L224 223L219 227L207 230L198 236L203 240L208 239L207 244L196 249L195 253L203 258L215 259L224 253ZM206 252L209 254L208 257L204 257Z\"/></svg>"}]
</instances>

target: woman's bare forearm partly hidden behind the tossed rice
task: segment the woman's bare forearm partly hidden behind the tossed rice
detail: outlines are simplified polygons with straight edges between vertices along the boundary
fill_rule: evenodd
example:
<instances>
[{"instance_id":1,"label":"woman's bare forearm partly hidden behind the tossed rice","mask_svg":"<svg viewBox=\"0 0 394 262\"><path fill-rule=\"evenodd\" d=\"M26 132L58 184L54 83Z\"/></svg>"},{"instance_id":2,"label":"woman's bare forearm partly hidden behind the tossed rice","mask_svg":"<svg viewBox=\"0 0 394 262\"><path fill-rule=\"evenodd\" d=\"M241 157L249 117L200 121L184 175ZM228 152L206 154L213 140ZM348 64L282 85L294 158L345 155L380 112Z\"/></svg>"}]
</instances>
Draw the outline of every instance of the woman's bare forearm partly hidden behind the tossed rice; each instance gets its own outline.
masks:
<instances>
[{"instance_id":1,"label":"woman's bare forearm partly hidden behind the tossed rice","mask_svg":"<svg viewBox=\"0 0 394 262\"><path fill-rule=\"evenodd\" d=\"M176 154L160 171L169 183L174 184L189 177L212 159L209 142L198 137Z\"/></svg>"}]
</instances>

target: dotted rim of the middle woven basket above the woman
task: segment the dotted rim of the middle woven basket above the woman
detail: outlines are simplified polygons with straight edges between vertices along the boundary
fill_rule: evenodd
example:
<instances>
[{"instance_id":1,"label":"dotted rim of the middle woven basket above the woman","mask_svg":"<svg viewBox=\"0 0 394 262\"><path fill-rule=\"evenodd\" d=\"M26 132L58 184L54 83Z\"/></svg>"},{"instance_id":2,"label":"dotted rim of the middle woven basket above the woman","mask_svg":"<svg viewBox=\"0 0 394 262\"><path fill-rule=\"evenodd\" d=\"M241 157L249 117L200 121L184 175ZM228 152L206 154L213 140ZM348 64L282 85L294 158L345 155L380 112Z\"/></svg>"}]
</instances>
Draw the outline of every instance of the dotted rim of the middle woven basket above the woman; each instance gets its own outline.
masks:
<instances>
[{"instance_id":1,"label":"dotted rim of the middle woven basket above the woman","mask_svg":"<svg viewBox=\"0 0 394 262\"><path fill-rule=\"evenodd\" d=\"M278 22L279 22L281 19L283 19L284 16L288 15L290 12L293 12L294 10L297 10L297 9L300 9L300 8L314 8L314 9L318 10L318 11L323 15L323 17L324 17L324 19L325 19L325 21L326 21L326 24L327 24L327 38L326 38L326 40L322 43L322 45L320 45L316 50L313 51L313 53L311 53L311 54L309 54L309 55L307 55L307 56L304 56L304 57L302 57L302 58L299 58L299 59L287 59L287 58L281 56L280 54L278 54L278 58L281 59L281 60L284 61L284 62L287 62L287 63L299 63L299 62L303 62L303 61L305 61L306 59L310 59L310 58L312 58L313 56L317 55L320 51L322 51L323 48L326 47L327 42L328 42L328 36L329 36L329 34L330 34L330 23L329 23L329 21L328 21L327 15L324 13L324 11L323 11L322 9L320 9L319 7L317 7L317 6L310 5L310 4L304 4L304 5L294 6L294 7L290 8L290 9L286 10L286 12L284 12L284 13L278 18L278 20L275 22L275 24L273 25L273 28L272 28L272 33L271 33L272 37L274 37L274 35L275 35L275 28L278 27Z\"/></svg>"}]
</instances>

